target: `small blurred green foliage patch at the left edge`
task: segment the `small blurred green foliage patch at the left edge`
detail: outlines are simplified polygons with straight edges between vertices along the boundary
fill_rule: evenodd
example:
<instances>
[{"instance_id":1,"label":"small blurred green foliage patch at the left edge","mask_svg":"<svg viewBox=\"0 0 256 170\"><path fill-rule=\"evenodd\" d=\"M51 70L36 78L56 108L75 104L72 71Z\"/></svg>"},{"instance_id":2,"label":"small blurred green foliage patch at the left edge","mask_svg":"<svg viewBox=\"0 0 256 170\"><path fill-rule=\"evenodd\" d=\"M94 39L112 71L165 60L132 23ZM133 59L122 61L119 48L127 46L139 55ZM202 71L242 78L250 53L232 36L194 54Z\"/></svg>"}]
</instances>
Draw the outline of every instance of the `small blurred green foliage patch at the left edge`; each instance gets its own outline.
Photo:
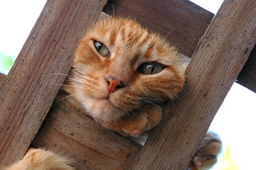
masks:
<instances>
[{"instance_id":1,"label":"small blurred green foliage patch at the left edge","mask_svg":"<svg viewBox=\"0 0 256 170\"><path fill-rule=\"evenodd\" d=\"M4 52L0 52L0 72L8 74L9 70L13 66L15 59L13 56L4 55Z\"/></svg>"}]
</instances>

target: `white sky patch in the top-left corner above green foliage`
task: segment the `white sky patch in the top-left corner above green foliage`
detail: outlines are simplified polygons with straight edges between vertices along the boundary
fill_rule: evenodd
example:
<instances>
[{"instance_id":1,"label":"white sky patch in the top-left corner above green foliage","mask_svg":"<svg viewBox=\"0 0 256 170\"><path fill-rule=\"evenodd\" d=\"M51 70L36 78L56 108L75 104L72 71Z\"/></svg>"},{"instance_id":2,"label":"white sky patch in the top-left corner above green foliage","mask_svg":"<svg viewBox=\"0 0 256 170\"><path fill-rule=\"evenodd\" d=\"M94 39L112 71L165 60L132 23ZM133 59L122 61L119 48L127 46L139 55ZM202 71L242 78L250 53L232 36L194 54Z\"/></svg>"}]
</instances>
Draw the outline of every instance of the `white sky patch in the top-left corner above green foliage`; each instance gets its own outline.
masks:
<instances>
[{"instance_id":1,"label":"white sky patch in the top-left corner above green foliage","mask_svg":"<svg viewBox=\"0 0 256 170\"><path fill-rule=\"evenodd\" d=\"M0 52L18 56L46 0L0 0Z\"/></svg>"}]
</instances>

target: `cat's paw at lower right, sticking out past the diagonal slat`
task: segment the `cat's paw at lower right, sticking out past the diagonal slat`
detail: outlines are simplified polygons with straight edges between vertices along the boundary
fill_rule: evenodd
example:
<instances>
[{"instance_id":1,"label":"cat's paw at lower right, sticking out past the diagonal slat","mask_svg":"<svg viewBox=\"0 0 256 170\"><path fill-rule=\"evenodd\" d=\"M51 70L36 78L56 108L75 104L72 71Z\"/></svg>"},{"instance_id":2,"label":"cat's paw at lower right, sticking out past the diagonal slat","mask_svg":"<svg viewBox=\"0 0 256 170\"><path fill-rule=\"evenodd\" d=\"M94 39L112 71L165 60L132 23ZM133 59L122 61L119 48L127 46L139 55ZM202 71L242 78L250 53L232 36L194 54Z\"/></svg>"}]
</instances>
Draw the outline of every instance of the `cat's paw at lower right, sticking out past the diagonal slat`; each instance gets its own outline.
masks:
<instances>
[{"instance_id":1,"label":"cat's paw at lower right, sticking out past the diagonal slat","mask_svg":"<svg viewBox=\"0 0 256 170\"><path fill-rule=\"evenodd\" d=\"M196 169L211 169L216 164L218 154L221 153L222 142L216 132L208 131L196 151L192 164Z\"/></svg>"}]
</instances>

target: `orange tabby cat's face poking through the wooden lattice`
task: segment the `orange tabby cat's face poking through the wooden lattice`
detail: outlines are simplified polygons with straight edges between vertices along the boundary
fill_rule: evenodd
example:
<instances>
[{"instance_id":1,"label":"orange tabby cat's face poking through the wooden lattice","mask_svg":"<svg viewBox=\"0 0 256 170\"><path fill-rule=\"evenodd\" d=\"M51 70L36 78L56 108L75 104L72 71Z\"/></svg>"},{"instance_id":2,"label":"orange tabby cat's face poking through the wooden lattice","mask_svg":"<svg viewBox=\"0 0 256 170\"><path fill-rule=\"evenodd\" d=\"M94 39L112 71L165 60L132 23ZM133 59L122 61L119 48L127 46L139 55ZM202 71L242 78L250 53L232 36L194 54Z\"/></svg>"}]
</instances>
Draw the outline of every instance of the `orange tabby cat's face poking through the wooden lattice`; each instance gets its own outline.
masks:
<instances>
[{"instance_id":1,"label":"orange tabby cat's face poking through the wooden lattice","mask_svg":"<svg viewBox=\"0 0 256 170\"><path fill-rule=\"evenodd\" d=\"M105 18L87 32L69 74L65 91L102 120L174 98L184 84L174 47L123 18Z\"/></svg>"}]
</instances>

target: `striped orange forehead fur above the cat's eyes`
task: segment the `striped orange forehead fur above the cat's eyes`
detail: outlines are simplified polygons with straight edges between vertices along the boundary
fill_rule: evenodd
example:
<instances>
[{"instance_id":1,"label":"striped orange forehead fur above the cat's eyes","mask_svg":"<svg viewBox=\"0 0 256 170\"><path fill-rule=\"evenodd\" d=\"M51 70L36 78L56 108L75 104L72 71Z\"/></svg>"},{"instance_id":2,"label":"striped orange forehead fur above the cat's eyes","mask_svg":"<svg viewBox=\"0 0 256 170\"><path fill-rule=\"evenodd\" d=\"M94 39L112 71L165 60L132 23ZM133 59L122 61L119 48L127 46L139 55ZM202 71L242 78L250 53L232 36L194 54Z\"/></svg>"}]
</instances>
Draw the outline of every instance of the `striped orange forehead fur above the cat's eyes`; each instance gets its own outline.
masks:
<instances>
[{"instance_id":1,"label":"striped orange forehead fur above the cat's eyes","mask_svg":"<svg viewBox=\"0 0 256 170\"><path fill-rule=\"evenodd\" d=\"M130 57L140 55L145 60L140 59L139 62L162 61L162 64L167 65L177 62L173 57L177 55L174 48L133 20L109 17L97 22L91 30L91 35L103 42L111 54L115 52L122 57L126 57L126 54Z\"/></svg>"}]
</instances>

